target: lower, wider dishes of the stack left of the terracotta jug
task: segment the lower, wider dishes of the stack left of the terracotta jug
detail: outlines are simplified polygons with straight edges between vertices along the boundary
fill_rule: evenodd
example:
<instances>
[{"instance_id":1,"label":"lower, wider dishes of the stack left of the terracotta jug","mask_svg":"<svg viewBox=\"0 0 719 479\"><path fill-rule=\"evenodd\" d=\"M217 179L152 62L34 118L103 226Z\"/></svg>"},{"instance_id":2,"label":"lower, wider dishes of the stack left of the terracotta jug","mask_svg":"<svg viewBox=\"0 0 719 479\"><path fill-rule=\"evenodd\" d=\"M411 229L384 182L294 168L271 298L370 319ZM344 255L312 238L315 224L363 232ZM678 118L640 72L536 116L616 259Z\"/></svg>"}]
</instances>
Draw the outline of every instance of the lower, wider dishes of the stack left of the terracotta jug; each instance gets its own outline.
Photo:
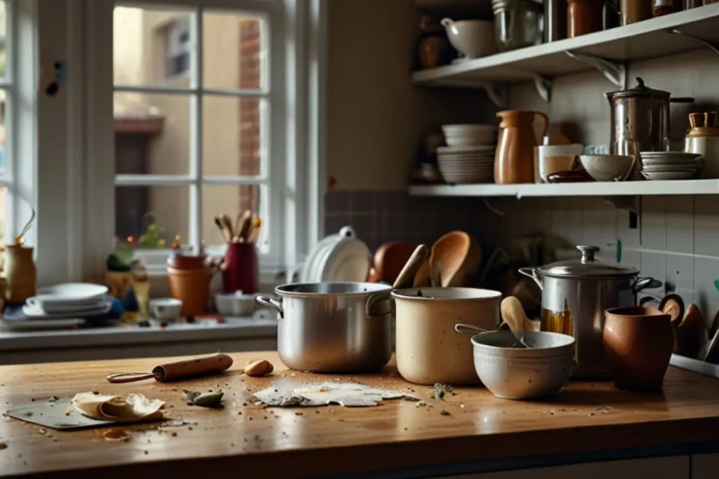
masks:
<instances>
[{"instance_id":1,"label":"lower, wider dishes of the stack left of the terracotta jug","mask_svg":"<svg viewBox=\"0 0 719 479\"><path fill-rule=\"evenodd\" d=\"M437 163L448 183L491 183L495 147L439 147Z\"/></svg>"}]
</instances>

